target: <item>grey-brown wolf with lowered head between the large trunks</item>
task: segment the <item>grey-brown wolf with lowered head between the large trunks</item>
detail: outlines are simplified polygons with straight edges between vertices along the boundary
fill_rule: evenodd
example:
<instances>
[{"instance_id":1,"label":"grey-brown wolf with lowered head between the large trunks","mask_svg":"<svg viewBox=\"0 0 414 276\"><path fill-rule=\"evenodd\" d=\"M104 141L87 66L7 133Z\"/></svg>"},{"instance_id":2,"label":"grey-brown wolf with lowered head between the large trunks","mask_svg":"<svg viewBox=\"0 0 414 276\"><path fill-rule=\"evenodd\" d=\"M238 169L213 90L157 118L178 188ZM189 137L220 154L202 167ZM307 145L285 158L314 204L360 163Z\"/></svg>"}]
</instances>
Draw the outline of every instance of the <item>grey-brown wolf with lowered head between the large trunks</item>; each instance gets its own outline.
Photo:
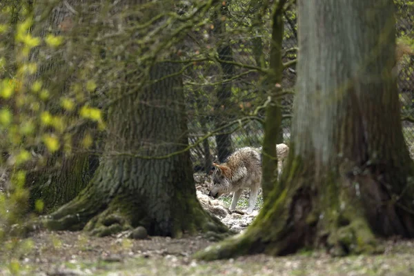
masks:
<instances>
[{"instance_id":1,"label":"grey-brown wolf with lowered head between the large trunks","mask_svg":"<svg viewBox=\"0 0 414 276\"><path fill-rule=\"evenodd\" d=\"M289 148L286 144L277 144L276 149L278 170L281 174ZM228 157L224 164L213 163L210 175L213 179L208 193L210 197L216 199L220 195L233 192L230 211L235 210L243 190L250 188L246 213L252 213L262 184L262 147L239 148Z\"/></svg>"}]
</instances>

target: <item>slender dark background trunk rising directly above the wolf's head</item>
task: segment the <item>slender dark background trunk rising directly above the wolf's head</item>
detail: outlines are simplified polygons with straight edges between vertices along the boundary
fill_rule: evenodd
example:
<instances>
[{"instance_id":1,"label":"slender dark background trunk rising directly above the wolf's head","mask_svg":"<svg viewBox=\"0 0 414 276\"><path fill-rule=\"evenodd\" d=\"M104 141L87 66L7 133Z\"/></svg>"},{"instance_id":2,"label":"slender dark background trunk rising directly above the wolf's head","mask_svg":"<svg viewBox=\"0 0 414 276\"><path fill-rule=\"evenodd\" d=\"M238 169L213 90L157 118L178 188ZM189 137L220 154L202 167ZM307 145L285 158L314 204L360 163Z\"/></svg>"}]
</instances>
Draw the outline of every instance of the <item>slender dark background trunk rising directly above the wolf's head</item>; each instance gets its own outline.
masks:
<instances>
[{"instance_id":1,"label":"slender dark background trunk rising directly above the wolf's head","mask_svg":"<svg viewBox=\"0 0 414 276\"><path fill-rule=\"evenodd\" d=\"M223 21L223 18L228 16L228 2L218 3L219 8L215 11L215 28L213 32L216 35L219 45L217 46L217 53L220 59L220 66L223 79L230 79L234 75L235 68L234 65L228 63L228 61L233 61L233 50L228 43L228 38L226 37L226 21ZM228 122L228 113L232 112L231 108L233 107L231 103L232 95L232 83L227 81L226 83L221 83L221 87L217 90L217 103L215 104L215 126L220 128ZM217 144L217 157L220 162L224 162L226 158L233 152L233 146L231 143L231 134L224 133L215 135L215 140Z\"/></svg>"}]
</instances>

